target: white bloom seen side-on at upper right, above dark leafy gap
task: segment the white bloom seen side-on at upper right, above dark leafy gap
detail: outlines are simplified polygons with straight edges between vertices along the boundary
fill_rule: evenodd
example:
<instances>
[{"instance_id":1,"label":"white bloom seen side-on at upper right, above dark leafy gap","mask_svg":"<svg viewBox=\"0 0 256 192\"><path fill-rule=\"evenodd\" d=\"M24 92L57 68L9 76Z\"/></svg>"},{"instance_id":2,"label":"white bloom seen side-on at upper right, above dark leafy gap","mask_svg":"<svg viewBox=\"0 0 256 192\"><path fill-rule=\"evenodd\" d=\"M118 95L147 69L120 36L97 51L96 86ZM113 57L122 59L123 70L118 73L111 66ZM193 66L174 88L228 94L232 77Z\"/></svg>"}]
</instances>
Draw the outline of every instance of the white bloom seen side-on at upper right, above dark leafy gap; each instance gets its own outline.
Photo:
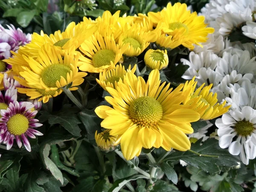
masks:
<instances>
[{"instance_id":1,"label":"white bloom seen side-on at upper right, above dark leafy gap","mask_svg":"<svg viewBox=\"0 0 256 192\"><path fill-rule=\"evenodd\" d=\"M215 35L227 37L234 28L239 27L246 21L252 21L253 18L251 14L252 12L249 8L246 8L242 13L227 12L221 17L218 17L216 21L212 21L210 26L215 28Z\"/></svg>"}]
</instances>

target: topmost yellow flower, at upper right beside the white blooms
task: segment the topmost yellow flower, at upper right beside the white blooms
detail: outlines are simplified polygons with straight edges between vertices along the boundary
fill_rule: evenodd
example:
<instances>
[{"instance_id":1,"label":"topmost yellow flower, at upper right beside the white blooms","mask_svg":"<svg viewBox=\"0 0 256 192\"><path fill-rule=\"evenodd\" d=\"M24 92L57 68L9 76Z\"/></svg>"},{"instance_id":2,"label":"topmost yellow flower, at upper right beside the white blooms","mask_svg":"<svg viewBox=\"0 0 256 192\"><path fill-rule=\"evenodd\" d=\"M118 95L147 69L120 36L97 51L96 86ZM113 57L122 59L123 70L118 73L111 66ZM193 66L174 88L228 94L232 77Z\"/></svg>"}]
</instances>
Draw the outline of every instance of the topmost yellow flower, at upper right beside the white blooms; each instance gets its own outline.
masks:
<instances>
[{"instance_id":1,"label":"topmost yellow flower, at upper right beside the white blooms","mask_svg":"<svg viewBox=\"0 0 256 192\"><path fill-rule=\"evenodd\" d=\"M213 28L207 28L204 16L198 16L196 12L190 13L185 3L175 3L174 6L168 3L161 12L149 12L148 16L154 24L158 23L157 31L172 37L182 36L182 45L189 49L194 49L193 44L202 47L200 43L206 42L207 35L214 32Z\"/></svg>"}]
</instances>

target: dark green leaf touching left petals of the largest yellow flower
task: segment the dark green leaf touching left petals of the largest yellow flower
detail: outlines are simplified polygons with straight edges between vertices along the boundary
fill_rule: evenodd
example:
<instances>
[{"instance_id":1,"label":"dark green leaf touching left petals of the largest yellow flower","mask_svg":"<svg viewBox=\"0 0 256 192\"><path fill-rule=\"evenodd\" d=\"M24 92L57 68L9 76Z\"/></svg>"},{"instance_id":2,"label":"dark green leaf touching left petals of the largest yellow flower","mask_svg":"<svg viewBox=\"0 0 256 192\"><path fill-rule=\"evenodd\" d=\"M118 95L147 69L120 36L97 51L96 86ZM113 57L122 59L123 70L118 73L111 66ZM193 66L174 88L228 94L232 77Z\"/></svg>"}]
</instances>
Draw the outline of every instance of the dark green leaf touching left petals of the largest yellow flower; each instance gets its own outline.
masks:
<instances>
[{"instance_id":1,"label":"dark green leaf touching left petals of the largest yellow flower","mask_svg":"<svg viewBox=\"0 0 256 192\"><path fill-rule=\"evenodd\" d=\"M89 140L94 140L95 132L101 132L100 119L93 110L84 109L78 114L79 119L84 124Z\"/></svg>"}]
</instances>

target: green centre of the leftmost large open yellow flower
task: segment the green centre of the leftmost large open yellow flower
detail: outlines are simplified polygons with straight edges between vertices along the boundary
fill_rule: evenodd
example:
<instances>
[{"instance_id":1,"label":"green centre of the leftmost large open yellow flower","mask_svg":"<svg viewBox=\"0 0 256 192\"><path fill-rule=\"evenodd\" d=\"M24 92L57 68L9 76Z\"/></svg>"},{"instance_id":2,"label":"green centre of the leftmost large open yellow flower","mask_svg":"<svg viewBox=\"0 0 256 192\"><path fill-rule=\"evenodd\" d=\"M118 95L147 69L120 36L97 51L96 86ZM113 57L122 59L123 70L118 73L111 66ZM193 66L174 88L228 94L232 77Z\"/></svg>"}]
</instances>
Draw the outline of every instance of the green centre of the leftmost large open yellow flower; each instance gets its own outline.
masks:
<instances>
[{"instance_id":1,"label":"green centre of the leftmost large open yellow flower","mask_svg":"<svg viewBox=\"0 0 256 192\"><path fill-rule=\"evenodd\" d=\"M56 81L60 81L61 77L67 81L67 73L70 73L69 67L63 64L52 64L43 70L42 81L48 87L56 87Z\"/></svg>"}]
</instances>

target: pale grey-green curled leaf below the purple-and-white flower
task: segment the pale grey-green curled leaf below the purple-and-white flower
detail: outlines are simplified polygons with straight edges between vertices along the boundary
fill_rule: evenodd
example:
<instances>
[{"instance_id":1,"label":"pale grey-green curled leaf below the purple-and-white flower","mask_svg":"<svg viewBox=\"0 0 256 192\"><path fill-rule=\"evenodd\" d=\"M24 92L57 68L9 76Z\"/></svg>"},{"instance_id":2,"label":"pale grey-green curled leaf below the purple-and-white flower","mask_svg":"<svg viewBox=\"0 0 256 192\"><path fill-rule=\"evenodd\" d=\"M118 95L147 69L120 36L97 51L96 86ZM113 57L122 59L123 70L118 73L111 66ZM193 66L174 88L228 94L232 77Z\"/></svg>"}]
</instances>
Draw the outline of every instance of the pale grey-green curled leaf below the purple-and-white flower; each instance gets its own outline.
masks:
<instances>
[{"instance_id":1,"label":"pale grey-green curled leaf below the purple-and-white flower","mask_svg":"<svg viewBox=\"0 0 256 192\"><path fill-rule=\"evenodd\" d=\"M50 160L49 156L49 151L51 147L50 145L46 144L44 148L40 148L40 156L43 160L44 166L46 169L48 169L52 175L63 184L63 176L61 171L58 169L58 167L55 165L55 163Z\"/></svg>"}]
</instances>

